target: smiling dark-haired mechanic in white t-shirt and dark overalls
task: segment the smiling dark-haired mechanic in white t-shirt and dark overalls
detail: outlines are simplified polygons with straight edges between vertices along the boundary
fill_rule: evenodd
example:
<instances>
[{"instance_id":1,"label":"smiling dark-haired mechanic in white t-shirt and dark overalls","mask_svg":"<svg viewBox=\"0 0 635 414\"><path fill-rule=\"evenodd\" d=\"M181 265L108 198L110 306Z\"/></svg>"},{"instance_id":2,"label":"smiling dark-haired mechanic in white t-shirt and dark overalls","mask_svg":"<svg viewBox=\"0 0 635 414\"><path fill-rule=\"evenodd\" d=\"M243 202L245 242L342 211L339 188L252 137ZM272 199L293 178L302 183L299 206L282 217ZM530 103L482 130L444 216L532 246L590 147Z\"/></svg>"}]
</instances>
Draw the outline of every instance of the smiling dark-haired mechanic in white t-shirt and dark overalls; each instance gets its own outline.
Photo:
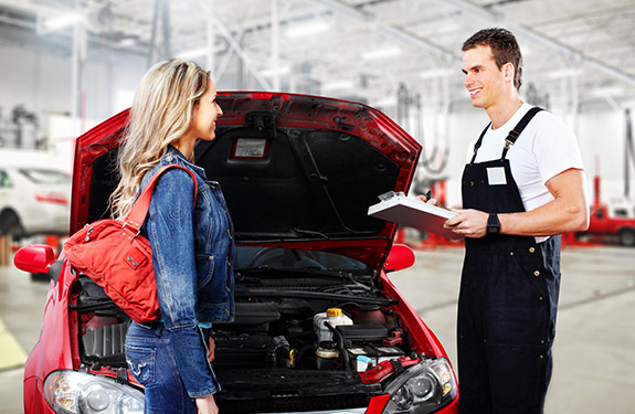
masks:
<instances>
[{"instance_id":1,"label":"smiling dark-haired mechanic in white t-shirt and dark overalls","mask_svg":"<svg viewBox=\"0 0 635 414\"><path fill-rule=\"evenodd\" d=\"M464 210L445 223L466 237L459 410L542 413L560 288L559 234L583 231L589 221L582 160L564 124L520 99L514 34L481 30L463 52L472 105L491 123L468 149Z\"/></svg>"}]
</instances>

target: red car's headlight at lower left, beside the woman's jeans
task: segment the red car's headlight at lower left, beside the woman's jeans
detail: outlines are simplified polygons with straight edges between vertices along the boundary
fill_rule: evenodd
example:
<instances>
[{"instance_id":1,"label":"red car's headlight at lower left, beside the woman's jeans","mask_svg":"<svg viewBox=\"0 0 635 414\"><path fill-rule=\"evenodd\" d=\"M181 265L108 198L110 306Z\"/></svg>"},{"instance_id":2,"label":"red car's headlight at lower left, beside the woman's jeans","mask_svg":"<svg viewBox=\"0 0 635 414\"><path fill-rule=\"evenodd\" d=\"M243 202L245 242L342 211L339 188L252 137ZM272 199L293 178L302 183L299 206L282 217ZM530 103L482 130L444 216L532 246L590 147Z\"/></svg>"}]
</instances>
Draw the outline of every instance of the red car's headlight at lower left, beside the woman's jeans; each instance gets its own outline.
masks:
<instances>
[{"instance_id":1,"label":"red car's headlight at lower left, beside the woman's jeans","mask_svg":"<svg viewBox=\"0 0 635 414\"><path fill-rule=\"evenodd\" d=\"M144 393L109 378L55 371L44 380L44 397L60 414L142 414Z\"/></svg>"}]
</instances>

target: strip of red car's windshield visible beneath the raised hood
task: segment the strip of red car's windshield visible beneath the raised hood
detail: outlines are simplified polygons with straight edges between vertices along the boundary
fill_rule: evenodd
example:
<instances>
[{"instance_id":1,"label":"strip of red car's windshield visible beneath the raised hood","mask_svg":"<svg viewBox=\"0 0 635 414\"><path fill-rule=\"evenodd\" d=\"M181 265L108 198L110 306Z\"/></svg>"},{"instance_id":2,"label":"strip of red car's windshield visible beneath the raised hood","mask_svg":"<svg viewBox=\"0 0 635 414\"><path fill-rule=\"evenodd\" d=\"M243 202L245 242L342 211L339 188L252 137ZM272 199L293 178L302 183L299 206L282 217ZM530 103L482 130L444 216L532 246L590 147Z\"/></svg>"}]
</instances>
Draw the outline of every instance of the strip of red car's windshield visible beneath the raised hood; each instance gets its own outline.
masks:
<instances>
[{"instance_id":1,"label":"strip of red car's windshield visible beneath the raised hood","mask_svg":"<svg viewBox=\"0 0 635 414\"><path fill-rule=\"evenodd\" d=\"M285 247L237 246L236 269L276 268L309 272L368 273L370 268L353 258L319 251Z\"/></svg>"}]
</instances>

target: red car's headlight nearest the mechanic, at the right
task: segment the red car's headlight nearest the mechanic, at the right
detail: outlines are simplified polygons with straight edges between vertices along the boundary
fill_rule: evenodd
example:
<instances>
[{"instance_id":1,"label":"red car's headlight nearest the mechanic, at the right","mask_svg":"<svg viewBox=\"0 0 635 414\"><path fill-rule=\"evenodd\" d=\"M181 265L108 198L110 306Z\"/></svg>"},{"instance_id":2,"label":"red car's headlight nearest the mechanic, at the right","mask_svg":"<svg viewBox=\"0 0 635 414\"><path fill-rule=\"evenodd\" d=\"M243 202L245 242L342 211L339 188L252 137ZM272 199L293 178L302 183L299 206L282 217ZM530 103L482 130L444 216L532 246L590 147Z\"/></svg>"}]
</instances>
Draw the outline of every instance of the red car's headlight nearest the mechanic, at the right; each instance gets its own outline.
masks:
<instances>
[{"instance_id":1,"label":"red car's headlight nearest the mechanic, at the right","mask_svg":"<svg viewBox=\"0 0 635 414\"><path fill-rule=\"evenodd\" d=\"M387 391L390 400L383 414L432 413L456 397L456 380L446 359L424 360L395 378Z\"/></svg>"}]
</instances>

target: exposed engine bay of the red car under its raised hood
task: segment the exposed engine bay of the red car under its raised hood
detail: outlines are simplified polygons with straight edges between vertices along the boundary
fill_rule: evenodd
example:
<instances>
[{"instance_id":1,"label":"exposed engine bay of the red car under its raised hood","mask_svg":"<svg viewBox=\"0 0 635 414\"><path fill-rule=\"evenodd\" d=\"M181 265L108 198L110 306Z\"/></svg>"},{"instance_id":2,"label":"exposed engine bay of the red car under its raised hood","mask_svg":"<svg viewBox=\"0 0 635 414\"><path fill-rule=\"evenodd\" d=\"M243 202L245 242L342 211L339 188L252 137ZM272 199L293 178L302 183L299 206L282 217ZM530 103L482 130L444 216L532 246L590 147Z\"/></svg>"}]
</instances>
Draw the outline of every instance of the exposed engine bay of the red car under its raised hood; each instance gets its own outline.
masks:
<instances>
[{"instance_id":1,"label":"exposed engine bay of the red car under its raised hood","mask_svg":"<svg viewBox=\"0 0 635 414\"><path fill-rule=\"evenodd\" d=\"M368 269L267 264L239 268L235 278L235 319L214 323L211 332L219 401L240 405L293 396L313 401L310 407L337 395L340 408L363 406L384 393L384 379L425 358L409 343L392 310L395 300L375 287ZM82 362L93 370L125 369L129 318L88 277L80 276L76 290L72 309Z\"/></svg>"}]
</instances>

